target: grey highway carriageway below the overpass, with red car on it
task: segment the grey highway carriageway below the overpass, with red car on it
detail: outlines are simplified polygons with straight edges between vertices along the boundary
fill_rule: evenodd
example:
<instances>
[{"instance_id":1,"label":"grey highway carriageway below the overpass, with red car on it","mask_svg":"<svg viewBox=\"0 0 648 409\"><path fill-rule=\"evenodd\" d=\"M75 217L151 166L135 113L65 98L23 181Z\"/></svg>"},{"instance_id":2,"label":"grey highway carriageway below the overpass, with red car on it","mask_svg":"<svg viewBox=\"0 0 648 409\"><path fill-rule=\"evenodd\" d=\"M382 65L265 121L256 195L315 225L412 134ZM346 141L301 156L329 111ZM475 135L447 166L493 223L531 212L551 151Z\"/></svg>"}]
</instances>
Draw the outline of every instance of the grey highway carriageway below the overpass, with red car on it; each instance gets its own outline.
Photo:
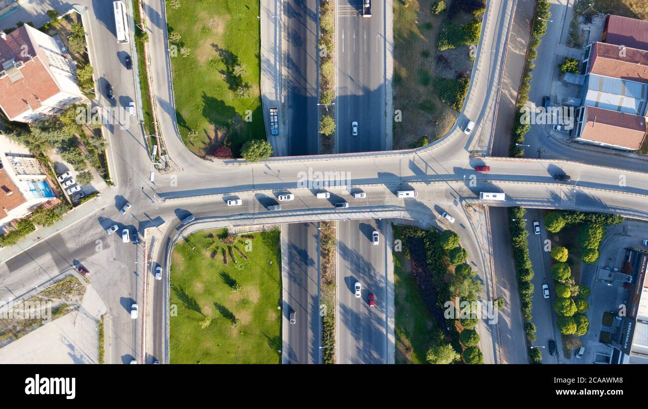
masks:
<instances>
[{"instance_id":1,"label":"grey highway carriageway below the overpass, with red car on it","mask_svg":"<svg viewBox=\"0 0 648 409\"><path fill-rule=\"evenodd\" d=\"M387 261L386 220L338 222L338 363L386 364ZM379 244L371 241L378 231ZM360 282L362 296L354 295ZM368 296L374 294L375 307Z\"/></svg>"}]
</instances>

